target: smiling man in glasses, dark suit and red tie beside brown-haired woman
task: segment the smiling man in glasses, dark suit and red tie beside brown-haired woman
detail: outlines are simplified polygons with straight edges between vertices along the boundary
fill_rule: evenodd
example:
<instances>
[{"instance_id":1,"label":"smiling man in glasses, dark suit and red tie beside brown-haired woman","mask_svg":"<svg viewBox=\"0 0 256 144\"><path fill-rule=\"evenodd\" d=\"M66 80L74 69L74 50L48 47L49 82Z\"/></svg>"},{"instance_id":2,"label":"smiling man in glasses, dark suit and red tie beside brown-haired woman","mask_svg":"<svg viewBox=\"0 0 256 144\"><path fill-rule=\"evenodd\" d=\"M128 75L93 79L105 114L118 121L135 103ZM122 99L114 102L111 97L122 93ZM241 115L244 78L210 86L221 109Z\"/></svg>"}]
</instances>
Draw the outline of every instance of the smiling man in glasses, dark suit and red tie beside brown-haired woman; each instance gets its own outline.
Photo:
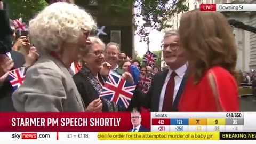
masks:
<instances>
[{"instance_id":1,"label":"smiling man in glasses, dark suit and red tie beside brown-haired woman","mask_svg":"<svg viewBox=\"0 0 256 144\"><path fill-rule=\"evenodd\" d=\"M137 109L143 106L153 112L178 111L179 99L187 80L187 60L184 57L184 50L180 47L177 30L167 31L162 51L169 69L154 75L146 94L137 87L134 93L136 99L131 102L137 102Z\"/></svg>"}]
</instances>

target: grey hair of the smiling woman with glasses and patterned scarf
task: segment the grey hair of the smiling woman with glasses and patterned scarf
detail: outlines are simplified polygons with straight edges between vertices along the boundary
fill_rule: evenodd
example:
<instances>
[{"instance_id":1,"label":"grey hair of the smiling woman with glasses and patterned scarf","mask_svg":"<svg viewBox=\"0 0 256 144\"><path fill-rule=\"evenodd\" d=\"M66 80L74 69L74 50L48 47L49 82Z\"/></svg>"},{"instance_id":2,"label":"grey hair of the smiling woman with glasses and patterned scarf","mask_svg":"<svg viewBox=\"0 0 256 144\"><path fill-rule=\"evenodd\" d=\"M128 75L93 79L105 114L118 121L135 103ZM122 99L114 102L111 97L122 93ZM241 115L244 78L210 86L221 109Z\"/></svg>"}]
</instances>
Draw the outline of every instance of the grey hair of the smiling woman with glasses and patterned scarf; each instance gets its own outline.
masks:
<instances>
[{"instance_id":1,"label":"grey hair of the smiling woman with glasses and patterned scarf","mask_svg":"<svg viewBox=\"0 0 256 144\"><path fill-rule=\"evenodd\" d=\"M86 55L86 54L88 54L88 52L89 52L89 50L92 48L92 45L93 45L93 44L99 44L99 45L103 48L103 50L106 49L105 43L102 42L100 38L98 38L98 37L89 37L89 39L90 39L90 41L91 41L91 44L86 45L85 47L82 47L82 48L80 49L81 55Z\"/></svg>"}]
</instances>

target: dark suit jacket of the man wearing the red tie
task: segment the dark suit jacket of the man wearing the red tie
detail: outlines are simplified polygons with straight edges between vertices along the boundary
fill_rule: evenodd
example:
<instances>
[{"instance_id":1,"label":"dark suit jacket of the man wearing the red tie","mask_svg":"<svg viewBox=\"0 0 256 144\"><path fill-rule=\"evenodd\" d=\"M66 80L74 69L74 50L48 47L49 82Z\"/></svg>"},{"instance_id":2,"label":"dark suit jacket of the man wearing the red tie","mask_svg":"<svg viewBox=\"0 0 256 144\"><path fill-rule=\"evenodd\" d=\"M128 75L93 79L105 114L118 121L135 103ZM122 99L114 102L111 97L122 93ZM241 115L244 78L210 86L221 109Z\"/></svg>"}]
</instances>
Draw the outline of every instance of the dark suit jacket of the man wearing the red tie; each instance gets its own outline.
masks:
<instances>
[{"instance_id":1,"label":"dark suit jacket of the man wearing the red tie","mask_svg":"<svg viewBox=\"0 0 256 144\"><path fill-rule=\"evenodd\" d=\"M161 94L167 73L168 73L168 69L155 74L151 81L151 87L149 88L146 94L142 92L138 86L136 87L135 92L133 94L134 99L132 99L131 101L131 103L135 103L134 104L135 108L139 110L139 108L142 106L147 109L150 109L151 112L159 111L160 94ZM176 99L174 100L173 109L170 111L177 111L179 98L181 97L186 80L187 80L187 75L185 74L180 84L180 89L176 95Z\"/></svg>"}]
</instances>

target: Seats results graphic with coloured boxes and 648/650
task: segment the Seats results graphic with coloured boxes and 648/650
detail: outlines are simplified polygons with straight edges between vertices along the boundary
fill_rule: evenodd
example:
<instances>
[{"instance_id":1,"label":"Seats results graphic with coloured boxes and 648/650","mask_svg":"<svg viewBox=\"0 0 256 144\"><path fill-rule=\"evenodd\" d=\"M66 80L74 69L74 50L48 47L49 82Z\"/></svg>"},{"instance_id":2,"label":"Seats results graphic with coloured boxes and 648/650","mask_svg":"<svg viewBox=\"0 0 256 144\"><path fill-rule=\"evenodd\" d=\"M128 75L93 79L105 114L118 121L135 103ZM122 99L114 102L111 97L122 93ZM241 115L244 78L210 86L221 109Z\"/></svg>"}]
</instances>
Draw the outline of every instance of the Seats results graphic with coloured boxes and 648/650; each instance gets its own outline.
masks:
<instances>
[{"instance_id":1,"label":"Seats results graphic with coloured boxes and 648/650","mask_svg":"<svg viewBox=\"0 0 256 144\"><path fill-rule=\"evenodd\" d=\"M255 132L255 113L151 113L151 132Z\"/></svg>"}]
</instances>

